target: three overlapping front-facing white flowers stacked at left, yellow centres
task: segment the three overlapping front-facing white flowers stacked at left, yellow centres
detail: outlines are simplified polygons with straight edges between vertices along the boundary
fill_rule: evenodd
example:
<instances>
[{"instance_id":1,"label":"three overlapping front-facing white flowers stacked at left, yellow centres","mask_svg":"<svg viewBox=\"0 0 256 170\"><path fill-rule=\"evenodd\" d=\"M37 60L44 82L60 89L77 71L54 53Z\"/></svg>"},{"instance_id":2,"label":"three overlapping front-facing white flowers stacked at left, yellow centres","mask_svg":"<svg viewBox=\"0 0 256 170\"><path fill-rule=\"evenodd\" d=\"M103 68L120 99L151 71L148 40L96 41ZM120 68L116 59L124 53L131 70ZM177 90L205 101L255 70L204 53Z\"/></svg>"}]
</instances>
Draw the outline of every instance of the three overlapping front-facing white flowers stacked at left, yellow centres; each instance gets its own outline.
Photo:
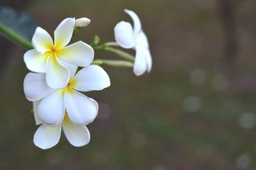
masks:
<instances>
[{"instance_id":1,"label":"three overlapping front-facing white flowers stacked at left, yellow centres","mask_svg":"<svg viewBox=\"0 0 256 170\"><path fill-rule=\"evenodd\" d=\"M96 118L98 104L78 91L95 91L110 86L110 78L98 65L91 64L94 50L85 42L68 45L75 28L75 18L66 18L50 35L37 28L34 49L24 55L28 73L24 92L33 101L36 124L34 143L42 149L56 145L61 127L68 141L80 147L90 141L85 127ZM83 67L78 71L78 67ZM78 71L78 72L77 72Z\"/></svg>"}]
</instances>

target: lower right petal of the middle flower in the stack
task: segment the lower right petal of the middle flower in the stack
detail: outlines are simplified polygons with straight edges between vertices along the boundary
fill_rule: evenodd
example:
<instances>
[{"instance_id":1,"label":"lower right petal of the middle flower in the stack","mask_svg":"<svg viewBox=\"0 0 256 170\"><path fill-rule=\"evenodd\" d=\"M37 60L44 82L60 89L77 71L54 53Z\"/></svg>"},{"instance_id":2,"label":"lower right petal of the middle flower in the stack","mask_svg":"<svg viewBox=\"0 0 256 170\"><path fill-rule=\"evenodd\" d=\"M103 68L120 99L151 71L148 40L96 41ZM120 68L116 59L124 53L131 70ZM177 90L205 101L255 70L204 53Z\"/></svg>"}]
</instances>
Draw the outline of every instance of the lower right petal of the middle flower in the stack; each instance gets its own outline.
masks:
<instances>
[{"instance_id":1,"label":"lower right petal of the middle flower in the stack","mask_svg":"<svg viewBox=\"0 0 256 170\"><path fill-rule=\"evenodd\" d=\"M65 100L68 117L75 125L87 125L95 120L99 106L92 98L70 90L65 93Z\"/></svg>"}]
</instances>

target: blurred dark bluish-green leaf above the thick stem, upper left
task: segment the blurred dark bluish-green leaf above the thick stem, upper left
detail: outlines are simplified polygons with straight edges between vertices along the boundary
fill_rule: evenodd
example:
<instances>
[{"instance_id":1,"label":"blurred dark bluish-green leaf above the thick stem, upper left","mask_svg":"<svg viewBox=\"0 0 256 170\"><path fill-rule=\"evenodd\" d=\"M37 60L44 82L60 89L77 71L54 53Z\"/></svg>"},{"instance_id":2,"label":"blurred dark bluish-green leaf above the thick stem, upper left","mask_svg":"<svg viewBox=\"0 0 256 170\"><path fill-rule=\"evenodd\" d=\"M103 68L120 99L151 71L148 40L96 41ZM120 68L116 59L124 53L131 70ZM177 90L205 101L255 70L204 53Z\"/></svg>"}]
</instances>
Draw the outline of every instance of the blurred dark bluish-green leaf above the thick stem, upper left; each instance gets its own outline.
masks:
<instances>
[{"instance_id":1,"label":"blurred dark bluish-green leaf above the thick stem, upper left","mask_svg":"<svg viewBox=\"0 0 256 170\"><path fill-rule=\"evenodd\" d=\"M37 27L37 24L26 13L18 13L13 8L5 6L0 7L0 23L29 41Z\"/></svg>"}]
</instances>

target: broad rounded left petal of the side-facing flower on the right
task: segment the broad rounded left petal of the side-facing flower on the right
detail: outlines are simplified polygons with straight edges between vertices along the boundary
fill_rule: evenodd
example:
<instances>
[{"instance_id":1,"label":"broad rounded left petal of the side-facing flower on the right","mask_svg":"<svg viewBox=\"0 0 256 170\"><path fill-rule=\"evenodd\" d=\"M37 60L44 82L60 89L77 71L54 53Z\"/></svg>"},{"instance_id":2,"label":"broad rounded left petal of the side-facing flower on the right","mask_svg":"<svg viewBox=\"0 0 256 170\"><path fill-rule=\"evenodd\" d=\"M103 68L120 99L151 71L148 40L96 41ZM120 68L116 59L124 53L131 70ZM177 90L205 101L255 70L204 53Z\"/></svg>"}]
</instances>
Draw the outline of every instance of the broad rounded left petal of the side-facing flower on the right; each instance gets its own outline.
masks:
<instances>
[{"instance_id":1,"label":"broad rounded left petal of the side-facing flower on the right","mask_svg":"<svg viewBox=\"0 0 256 170\"><path fill-rule=\"evenodd\" d=\"M135 46L132 25L125 21L117 23L114 27L114 38L121 47L132 48Z\"/></svg>"}]
</instances>

